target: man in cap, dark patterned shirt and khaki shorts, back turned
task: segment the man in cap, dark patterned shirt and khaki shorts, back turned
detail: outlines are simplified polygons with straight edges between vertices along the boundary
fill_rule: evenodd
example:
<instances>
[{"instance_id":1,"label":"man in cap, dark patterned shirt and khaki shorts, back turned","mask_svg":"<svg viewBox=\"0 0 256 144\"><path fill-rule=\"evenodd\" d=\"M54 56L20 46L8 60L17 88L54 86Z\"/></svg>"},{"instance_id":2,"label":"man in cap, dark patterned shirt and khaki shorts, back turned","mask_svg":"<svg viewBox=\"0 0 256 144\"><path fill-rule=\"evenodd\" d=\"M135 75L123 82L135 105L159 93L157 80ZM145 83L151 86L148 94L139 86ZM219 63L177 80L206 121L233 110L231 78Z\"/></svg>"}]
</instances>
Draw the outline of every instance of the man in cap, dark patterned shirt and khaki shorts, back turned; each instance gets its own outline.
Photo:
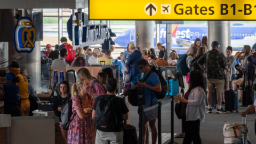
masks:
<instances>
[{"instance_id":1,"label":"man in cap, dark patterned shirt and khaki shorts, back turned","mask_svg":"<svg viewBox=\"0 0 256 144\"><path fill-rule=\"evenodd\" d=\"M207 74L207 103L208 111L206 113L212 113L212 93L214 89L217 91L217 101L218 101L218 109L216 113L226 114L227 111L221 108L222 101L222 92L225 83L225 71L229 72L229 68L227 66L227 58L225 55L219 51L220 43L217 41L212 42L211 44L212 50L207 51L198 61L197 63ZM205 67L203 66L205 64Z\"/></svg>"}]
</instances>

